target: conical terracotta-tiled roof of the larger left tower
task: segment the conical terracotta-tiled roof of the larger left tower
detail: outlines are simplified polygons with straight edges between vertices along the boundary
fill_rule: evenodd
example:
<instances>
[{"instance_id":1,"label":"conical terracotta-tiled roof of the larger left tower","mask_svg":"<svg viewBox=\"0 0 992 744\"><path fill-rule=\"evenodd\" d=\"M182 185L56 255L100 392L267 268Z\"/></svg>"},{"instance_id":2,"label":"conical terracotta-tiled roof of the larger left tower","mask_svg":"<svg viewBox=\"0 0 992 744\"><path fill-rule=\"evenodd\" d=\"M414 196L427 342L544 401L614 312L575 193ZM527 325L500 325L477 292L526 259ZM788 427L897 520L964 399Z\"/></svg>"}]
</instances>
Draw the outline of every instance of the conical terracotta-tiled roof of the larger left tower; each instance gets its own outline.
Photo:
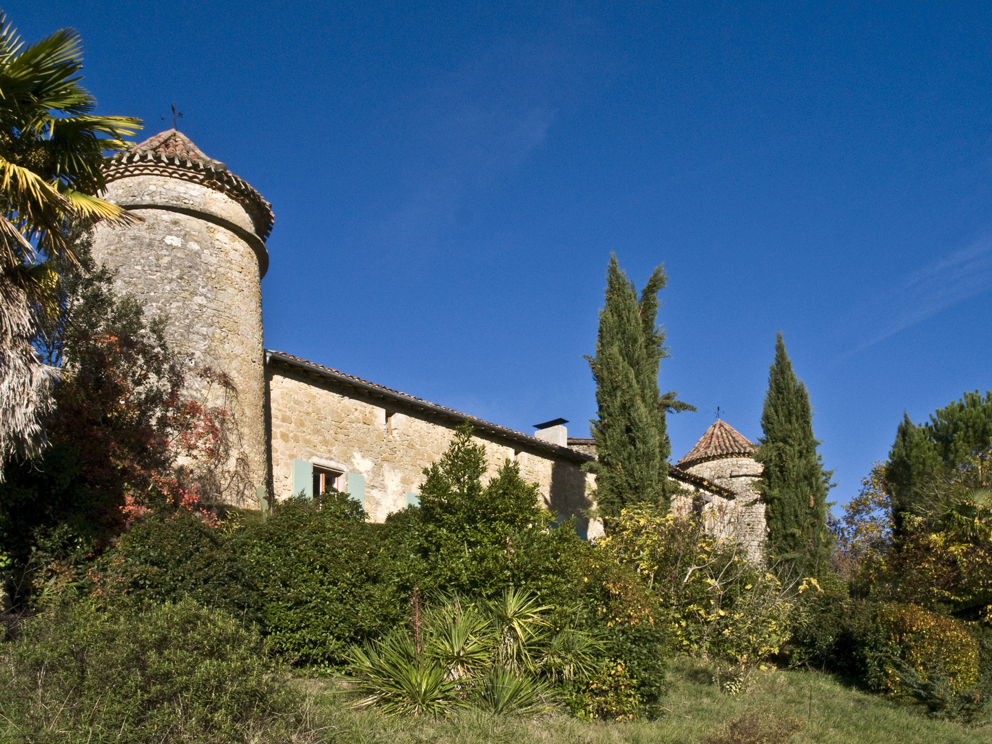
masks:
<instances>
[{"instance_id":1,"label":"conical terracotta-tiled roof of the larger left tower","mask_svg":"<svg viewBox=\"0 0 992 744\"><path fill-rule=\"evenodd\" d=\"M238 201L248 212L255 232L265 240L272 232L272 204L227 166L203 154L185 134L167 129L124 153L110 158L103 168L107 184L131 176L165 176L213 188Z\"/></svg>"}]
</instances>

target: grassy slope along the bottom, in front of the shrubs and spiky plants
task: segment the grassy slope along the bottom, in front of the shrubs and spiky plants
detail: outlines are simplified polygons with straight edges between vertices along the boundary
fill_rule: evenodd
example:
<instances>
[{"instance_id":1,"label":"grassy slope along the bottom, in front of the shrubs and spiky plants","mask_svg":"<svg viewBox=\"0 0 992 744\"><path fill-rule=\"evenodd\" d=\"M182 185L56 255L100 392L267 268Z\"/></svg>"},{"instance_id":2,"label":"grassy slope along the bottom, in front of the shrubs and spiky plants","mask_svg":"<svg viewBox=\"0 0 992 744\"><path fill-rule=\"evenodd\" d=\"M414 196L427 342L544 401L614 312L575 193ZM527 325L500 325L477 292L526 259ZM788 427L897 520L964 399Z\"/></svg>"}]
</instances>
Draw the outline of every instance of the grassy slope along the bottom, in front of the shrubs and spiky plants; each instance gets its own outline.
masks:
<instances>
[{"instance_id":1,"label":"grassy slope along the bottom, in front of the shrubs and spiky plants","mask_svg":"<svg viewBox=\"0 0 992 744\"><path fill-rule=\"evenodd\" d=\"M492 718L474 711L446 719L403 720L375 711L350 710L346 695L332 685L313 681L307 684L316 693L314 704L324 719L322 725L329 726L323 732L326 740L349 744L688 744L726 732L728 720L749 712L798 719L800 731L783 740L790 744L992 742L992 725L965 727L932 720L916 710L853 690L826 675L795 671L756 674L746 694L731 697L717 691L703 670L682 666L670 676L666 701L669 714L659 721L631 723L585 723L559 714L537 720Z\"/></svg>"}]
</instances>

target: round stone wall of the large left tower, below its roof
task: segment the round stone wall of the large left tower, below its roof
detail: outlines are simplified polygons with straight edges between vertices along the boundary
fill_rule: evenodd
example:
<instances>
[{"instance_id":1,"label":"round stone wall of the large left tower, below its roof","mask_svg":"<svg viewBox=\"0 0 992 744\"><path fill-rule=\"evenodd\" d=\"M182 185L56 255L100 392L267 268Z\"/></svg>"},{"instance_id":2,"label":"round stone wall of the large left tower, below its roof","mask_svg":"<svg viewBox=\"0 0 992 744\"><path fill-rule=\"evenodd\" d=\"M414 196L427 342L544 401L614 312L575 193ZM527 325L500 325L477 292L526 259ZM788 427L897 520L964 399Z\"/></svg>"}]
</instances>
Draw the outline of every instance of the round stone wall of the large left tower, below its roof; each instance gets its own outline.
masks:
<instances>
[{"instance_id":1,"label":"round stone wall of the large left tower, below its roof","mask_svg":"<svg viewBox=\"0 0 992 744\"><path fill-rule=\"evenodd\" d=\"M235 419L235 455L246 457L249 482L222 497L254 506L255 487L268 481L259 265L264 244L244 207L205 186L136 176L112 182L104 197L145 221L99 227L93 258L116 272L118 289L144 301L149 315L168 316L168 340L190 369L210 366L231 378L236 398L193 377L188 393L224 406Z\"/></svg>"}]
</instances>

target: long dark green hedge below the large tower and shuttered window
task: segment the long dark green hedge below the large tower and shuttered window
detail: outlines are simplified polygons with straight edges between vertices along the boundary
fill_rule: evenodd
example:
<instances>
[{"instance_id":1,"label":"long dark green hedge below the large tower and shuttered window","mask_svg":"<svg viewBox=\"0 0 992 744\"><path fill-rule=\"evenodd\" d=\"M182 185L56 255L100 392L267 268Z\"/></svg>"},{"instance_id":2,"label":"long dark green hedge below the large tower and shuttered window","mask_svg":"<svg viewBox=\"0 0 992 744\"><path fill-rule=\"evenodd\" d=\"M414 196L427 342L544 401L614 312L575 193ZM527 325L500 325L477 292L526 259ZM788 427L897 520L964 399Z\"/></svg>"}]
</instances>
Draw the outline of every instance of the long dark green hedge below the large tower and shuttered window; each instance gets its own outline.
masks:
<instances>
[{"instance_id":1,"label":"long dark green hedge below the large tower and shuttered window","mask_svg":"<svg viewBox=\"0 0 992 744\"><path fill-rule=\"evenodd\" d=\"M101 583L137 600L190 597L258 624L296 664L339 665L350 644L406 616L382 529L337 492L291 499L267 520L252 515L236 529L180 510L124 536L101 560Z\"/></svg>"}]
</instances>

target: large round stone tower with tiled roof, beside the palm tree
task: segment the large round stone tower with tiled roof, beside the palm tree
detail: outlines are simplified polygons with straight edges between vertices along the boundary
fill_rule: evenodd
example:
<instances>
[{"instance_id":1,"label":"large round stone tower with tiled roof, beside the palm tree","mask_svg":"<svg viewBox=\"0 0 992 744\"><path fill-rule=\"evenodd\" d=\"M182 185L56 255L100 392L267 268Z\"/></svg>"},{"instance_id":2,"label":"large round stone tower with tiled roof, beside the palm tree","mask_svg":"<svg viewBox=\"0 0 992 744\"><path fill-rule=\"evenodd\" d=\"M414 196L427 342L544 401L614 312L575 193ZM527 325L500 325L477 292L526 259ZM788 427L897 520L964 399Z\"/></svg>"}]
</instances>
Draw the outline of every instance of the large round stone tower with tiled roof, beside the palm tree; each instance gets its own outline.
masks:
<instances>
[{"instance_id":1,"label":"large round stone tower with tiled roof, beside the palm tree","mask_svg":"<svg viewBox=\"0 0 992 744\"><path fill-rule=\"evenodd\" d=\"M191 371L209 367L233 383L225 391L187 378L191 395L231 417L238 477L219 495L257 504L270 481L261 280L271 205L175 129L115 156L104 174L103 197L144 221L98 227L93 259L114 270L118 288L144 301L149 315L166 314L167 337Z\"/></svg>"}]
</instances>

